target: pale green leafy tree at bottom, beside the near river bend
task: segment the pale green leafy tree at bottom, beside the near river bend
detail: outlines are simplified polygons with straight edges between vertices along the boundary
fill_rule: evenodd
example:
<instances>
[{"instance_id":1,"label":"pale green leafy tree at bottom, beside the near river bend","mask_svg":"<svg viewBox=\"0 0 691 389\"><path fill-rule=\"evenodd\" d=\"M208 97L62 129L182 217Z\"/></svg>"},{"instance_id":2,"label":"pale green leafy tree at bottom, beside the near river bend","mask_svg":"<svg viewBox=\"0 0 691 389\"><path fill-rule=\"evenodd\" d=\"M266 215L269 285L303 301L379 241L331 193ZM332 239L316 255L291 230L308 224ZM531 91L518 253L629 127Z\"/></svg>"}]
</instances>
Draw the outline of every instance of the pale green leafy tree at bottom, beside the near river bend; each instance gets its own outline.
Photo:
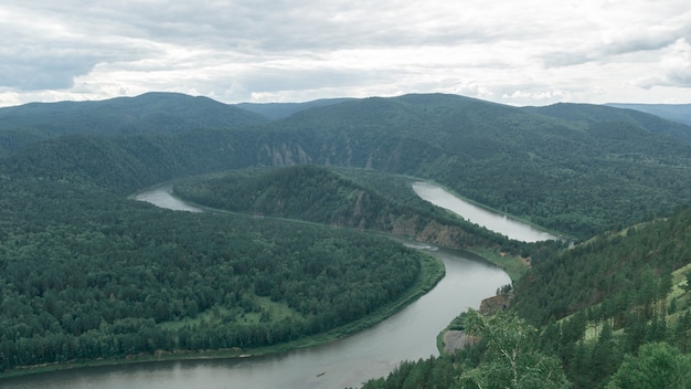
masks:
<instances>
[{"instance_id":1,"label":"pale green leafy tree at bottom, beside the near river bend","mask_svg":"<svg viewBox=\"0 0 691 389\"><path fill-rule=\"evenodd\" d=\"M535 328L513 312L468 311L466 332L487 341L480 365L461 376L464 388L570 388L556 357L538 350Z\"/></svg>"}]
</instances>

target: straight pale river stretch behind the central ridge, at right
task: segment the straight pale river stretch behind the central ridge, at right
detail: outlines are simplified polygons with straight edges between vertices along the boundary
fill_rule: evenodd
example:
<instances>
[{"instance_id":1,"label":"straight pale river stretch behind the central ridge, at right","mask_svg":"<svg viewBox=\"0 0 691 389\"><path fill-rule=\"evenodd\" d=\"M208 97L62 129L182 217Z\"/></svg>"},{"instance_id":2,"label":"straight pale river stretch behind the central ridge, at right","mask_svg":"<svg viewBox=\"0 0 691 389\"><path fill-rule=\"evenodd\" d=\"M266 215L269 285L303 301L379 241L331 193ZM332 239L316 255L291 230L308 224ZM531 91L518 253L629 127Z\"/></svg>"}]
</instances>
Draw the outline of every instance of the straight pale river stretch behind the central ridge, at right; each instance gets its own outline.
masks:
<instances>
[{"instance_id":1,"label":"straight pale river stretch behind the central ridge, at right","mask_svg":"<svg viewBox=\"0 0 691 389\"><path fill-rule=\"evenodd\" d=\"M449 193L444 188L429 182L415 182L413 183L413 190L423 200L429 201L437 207L446 208L471 223L499 232L509 239L522 242L560 239L549 232L538 230L532 225L464 201Z\"/></svg>"}]
</instances>

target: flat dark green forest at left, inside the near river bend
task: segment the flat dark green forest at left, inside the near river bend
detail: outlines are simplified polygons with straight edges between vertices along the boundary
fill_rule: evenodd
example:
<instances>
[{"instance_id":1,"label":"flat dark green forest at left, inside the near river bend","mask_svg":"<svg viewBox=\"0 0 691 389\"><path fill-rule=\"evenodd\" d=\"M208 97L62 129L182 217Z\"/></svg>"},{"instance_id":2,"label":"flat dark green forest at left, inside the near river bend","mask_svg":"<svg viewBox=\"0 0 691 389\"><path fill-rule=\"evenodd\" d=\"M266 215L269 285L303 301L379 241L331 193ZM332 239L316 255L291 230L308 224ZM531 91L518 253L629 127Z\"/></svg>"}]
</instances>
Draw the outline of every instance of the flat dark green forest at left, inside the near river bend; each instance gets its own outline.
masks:
<instances>
[{"instance_id":1,"label":"flat dark green forest at left, inside the near river bend","mask_svg":"<svg viewBox=\"0 0 691 389\"><path fill-rule=\"evenodd\" d=\"M421 254L384 238L0 179L0 370L285 343L361 319L421 276Z\"/></svg>"}]
</instances>

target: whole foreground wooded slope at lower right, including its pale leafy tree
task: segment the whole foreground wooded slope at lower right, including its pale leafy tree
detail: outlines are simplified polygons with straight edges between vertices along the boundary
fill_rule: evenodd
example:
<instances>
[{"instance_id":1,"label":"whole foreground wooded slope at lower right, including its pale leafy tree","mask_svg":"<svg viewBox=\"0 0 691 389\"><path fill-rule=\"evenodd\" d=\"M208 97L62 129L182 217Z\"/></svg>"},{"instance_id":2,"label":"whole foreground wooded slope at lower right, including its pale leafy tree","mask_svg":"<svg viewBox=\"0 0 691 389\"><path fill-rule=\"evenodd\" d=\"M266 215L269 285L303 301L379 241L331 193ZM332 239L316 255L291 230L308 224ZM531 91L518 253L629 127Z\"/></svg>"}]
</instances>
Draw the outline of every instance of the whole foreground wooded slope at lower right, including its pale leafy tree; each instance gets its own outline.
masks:
<instances>
[{"instance_id":1,"label":"whole foreground wooded slope at lower right, including its pale leafy tree","mask_svg":"<svg viewBox=\"0 0 691 389\"><path fill-rule=\"evenodd\" d=\"M688 388L689 242L685 210L554 253L514 285L509 311L461 315L480 341L364 388ZM507 349L513 365L497 355Z\"/></svg>"}]
</instances>

